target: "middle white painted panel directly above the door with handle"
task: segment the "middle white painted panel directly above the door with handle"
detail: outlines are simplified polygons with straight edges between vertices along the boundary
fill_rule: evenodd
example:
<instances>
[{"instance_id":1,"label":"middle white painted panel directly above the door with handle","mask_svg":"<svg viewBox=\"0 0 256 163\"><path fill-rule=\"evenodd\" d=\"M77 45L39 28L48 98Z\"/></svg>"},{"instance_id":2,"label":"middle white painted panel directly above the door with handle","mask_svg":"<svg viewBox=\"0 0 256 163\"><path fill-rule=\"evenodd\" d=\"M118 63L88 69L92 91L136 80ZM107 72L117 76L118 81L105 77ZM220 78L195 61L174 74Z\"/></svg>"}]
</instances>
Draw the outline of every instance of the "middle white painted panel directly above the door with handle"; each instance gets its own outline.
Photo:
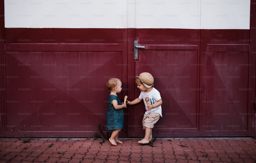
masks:
<instances>
[{"instance_id":1,"label":"middle white painted panel directly above the door with handle","mask_svg":"<svg viewBox=\"0 0 256 163\"><path fill-rule=\"evenodd\" d=\"M200 29L198 0L139 0L135 28Z\"/></svg>"}]
</instances>

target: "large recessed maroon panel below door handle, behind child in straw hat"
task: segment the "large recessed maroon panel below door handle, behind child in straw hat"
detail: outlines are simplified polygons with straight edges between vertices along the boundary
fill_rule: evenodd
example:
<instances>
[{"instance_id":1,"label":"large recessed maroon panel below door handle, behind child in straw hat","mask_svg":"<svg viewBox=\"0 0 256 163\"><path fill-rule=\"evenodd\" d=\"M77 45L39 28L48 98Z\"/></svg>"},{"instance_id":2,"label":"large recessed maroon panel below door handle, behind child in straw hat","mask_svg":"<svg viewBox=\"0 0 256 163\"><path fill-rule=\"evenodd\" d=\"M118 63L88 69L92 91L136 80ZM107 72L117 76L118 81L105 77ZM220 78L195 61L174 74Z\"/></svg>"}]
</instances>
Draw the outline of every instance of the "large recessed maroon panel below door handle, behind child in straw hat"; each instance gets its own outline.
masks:
<instances>
[{"instance_id":1,"label":"large recessed maroon panel below door handle, behind child in straw hat","mask_svg":"<svg viewBox=\"0 0 256 163\"><path fill-rule=\"evenodd\" d=\"M156 129L197 128L197 51L196 50L141 50L136 62L136 74L151 72L155 88L163 100L163 117ZM140 91L137 90L137 96ZM144 107L140 110L142 113ZM144 115L144 114L143 114ZM142 116L141 121L142 122ZM171 119L166 123L164 119ZM180 119L183 118L183 121ZM157 126L160 127L157 127Z\"/></svg>"}]
</instances>

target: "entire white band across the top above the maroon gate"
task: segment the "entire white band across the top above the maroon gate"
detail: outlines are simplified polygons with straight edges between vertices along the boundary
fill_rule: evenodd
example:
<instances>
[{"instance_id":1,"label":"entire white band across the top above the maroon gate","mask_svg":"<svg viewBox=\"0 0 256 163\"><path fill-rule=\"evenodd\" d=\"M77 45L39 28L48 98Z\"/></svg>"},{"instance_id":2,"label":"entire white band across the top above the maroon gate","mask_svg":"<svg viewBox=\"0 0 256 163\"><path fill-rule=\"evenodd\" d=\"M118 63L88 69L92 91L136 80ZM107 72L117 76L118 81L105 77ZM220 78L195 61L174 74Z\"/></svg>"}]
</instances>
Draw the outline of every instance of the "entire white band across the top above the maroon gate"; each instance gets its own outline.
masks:
<instances>
[{"instance_id":1,"label":"entire white band across the top above the maroon gate","mask_svg":"<svg viewBox=\"0 0 256 163\"><path fill-rule=\"evenodd\" d=\"M5 27L250 29L250 3L250 0L5 0Z\"/></svg>"}]
</instances>

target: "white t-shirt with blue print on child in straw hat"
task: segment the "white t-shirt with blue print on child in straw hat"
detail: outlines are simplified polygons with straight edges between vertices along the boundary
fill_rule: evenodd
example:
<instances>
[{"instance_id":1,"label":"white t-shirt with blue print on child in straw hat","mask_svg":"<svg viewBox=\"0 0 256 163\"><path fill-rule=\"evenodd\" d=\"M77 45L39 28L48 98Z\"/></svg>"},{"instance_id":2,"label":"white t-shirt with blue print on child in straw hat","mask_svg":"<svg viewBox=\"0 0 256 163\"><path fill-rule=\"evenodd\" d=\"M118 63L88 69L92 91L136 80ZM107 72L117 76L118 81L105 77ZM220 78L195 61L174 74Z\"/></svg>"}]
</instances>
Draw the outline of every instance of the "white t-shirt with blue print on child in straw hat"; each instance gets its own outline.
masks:
<instances>
[{"instance_id":1,"label":"white t-shirt with blue print on child in straw hat","mask_svg":"<svg viewBox=\"0 0 256 163\"><path fill-rule=\"evenodd\" d=\"M147 104L146 104L146 101L145 101L145 97L149 97L149 99L150 99L150 104L153 105L153 104L155 104L158 100L162 99L162 98L161 98L161 95L160 95L160 93L159 93L159 91L157 91L157 90L153 87L153 89L152 89L150 92L148 92L148 93L145 92L145 91L141 92L139 98L140 98L140 99L143 99L143 101L144 101L145 108L146 108L145 114L148 114L148 113L151 113L151 112L156 112L156 113L159 113L159 114L161 115L161 117L163 117L163 116L162 116L162 107L161 107L161 105L158 106L158 107L155 107L155 108L151 109L151 112L148 111Z\"/></svg>"}]
</instances>

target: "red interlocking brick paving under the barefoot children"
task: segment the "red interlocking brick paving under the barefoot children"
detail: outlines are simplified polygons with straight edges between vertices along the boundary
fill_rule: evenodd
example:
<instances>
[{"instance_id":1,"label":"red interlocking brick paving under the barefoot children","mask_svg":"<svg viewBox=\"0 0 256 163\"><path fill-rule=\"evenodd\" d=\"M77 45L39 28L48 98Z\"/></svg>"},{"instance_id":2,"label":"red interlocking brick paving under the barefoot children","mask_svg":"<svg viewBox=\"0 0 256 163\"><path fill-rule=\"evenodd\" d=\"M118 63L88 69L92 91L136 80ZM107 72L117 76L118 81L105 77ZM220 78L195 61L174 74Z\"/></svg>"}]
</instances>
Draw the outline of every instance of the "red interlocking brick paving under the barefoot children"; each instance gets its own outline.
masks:
<instances>
[{"instance_id":1,"label":"red interlocking brick paving under the barefoot children","mask_svg":"<svg viewBox=\"0 0 256 163\"><path fill-rule=\"evenodd\" d=\"M124 138L123 144L112 146L108 140L94 139L18 139L0 140L0 163L197 163L197 162L256 162L254 139L158 138L150 145L140 139Z\"/></svg>"}]
</instances>

